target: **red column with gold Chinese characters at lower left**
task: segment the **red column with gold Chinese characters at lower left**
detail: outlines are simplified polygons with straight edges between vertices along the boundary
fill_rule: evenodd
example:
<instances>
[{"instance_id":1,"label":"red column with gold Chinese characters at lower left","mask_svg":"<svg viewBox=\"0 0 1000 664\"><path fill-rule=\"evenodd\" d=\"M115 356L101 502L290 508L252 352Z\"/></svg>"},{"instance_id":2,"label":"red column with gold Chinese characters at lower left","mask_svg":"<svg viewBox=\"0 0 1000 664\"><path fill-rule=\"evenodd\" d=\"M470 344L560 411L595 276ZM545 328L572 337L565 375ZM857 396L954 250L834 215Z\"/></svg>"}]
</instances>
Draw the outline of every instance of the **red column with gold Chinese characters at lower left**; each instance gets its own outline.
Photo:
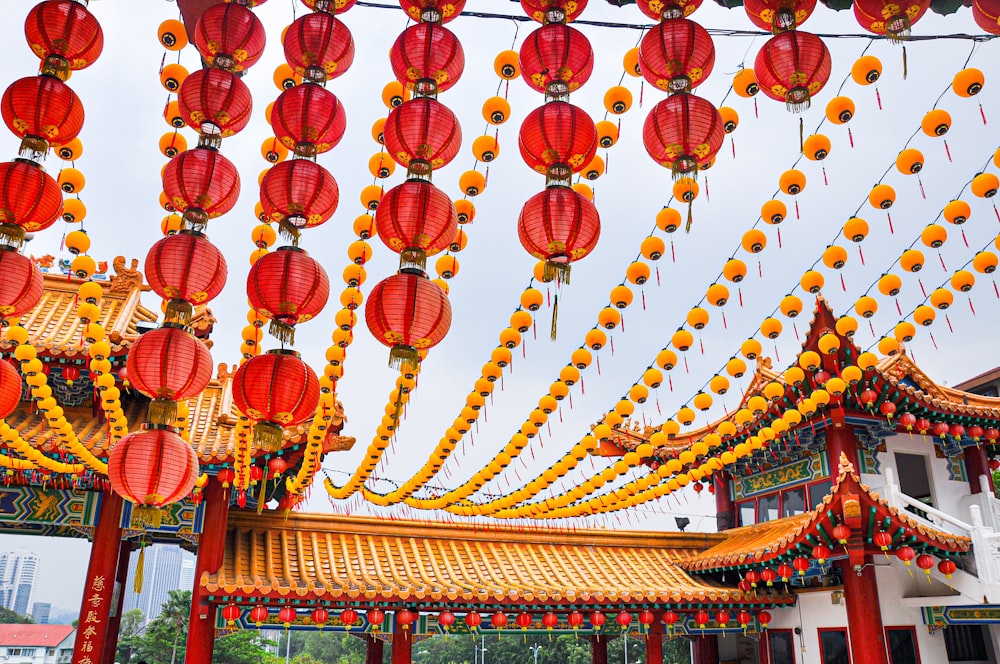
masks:
<instances>
[{"instance_id":1,"label":"red column with gold Chinese characters at lower left","mask_svg":"<svg viewBox=\"0 0 1000 664\"><path fill-rule=\"evenodd\" d=\"M118 572L118 549L122 543L121 518L121 496L111 491L104 493L83 586L80 622L73 646L74 664L100 664L104 657L104 645L109 637L112 593Z\"/></svg>"}]
</instances>

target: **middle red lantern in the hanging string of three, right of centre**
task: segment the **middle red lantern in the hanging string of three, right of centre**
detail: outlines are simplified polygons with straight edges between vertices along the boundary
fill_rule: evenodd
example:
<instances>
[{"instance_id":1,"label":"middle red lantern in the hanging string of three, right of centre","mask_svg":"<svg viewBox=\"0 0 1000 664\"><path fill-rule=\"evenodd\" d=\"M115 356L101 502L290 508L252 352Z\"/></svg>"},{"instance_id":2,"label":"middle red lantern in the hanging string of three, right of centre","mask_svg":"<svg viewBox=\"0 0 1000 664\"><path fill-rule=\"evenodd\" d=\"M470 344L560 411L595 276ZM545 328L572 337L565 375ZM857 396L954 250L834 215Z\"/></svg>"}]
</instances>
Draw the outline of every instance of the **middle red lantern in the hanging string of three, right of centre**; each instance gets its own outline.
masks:
<instances>
[{"instance_id":1,"label":"middle red lantern in the hanging string of three, right of centre","mask_svg":"<svg viewBox=\"0 0 1000 664\"><path fill-rule=\"evenodd\" d=\"M639 71L660 90L691 92L715 65L715 44L708 30L686 18L663 21L639 43Z\"/></svg>"}]
</instances>

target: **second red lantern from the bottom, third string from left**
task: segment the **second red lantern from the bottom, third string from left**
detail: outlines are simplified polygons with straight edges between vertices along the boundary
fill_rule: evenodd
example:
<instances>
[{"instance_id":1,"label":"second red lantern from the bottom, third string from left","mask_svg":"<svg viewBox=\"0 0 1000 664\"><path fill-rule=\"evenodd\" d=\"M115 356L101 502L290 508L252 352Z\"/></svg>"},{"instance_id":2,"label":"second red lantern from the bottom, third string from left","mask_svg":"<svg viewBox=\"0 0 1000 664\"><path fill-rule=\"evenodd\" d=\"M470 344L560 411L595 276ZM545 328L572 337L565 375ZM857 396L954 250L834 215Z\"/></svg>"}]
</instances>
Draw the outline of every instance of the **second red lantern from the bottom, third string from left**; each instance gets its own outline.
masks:
<instances>
[{"instance_id":1,"label":"second red lantern from the bottom, third string from left","mask_svg":"<svg viewBox=\"0 0 1000 664\"><path fill-rule=\"evenodd\" d=\"M330 279L315 258L298 247L278 247L253 264L247 275L250 306L270 318L268 331L295 342L295 325L315 318L330 297Z\"/></svg>"}]
</instances>

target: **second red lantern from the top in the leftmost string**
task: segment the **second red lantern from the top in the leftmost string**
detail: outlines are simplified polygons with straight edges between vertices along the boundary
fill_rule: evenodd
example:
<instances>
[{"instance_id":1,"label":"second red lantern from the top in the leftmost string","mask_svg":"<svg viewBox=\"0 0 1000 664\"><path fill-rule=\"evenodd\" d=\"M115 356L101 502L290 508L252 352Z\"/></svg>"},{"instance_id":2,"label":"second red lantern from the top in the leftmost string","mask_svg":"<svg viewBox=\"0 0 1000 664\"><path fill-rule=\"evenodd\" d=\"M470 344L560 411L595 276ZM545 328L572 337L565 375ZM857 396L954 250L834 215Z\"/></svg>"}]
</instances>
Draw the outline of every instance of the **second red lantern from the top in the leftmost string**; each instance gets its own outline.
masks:
<instances>
[{"instance_id":1,"label":"second red lantern from the top in the leftmost string","mask_svg":"<svg viewBox=\"0 0 1000 664\"><path fill-rule=\"evenodd\" d=\"M0 99L0 115L8 129L23 139L23 148L39 156L49 146L69 143L83 129L80 98L54 76L30 76L11 83Z\"/></svg>"}]
</instances>

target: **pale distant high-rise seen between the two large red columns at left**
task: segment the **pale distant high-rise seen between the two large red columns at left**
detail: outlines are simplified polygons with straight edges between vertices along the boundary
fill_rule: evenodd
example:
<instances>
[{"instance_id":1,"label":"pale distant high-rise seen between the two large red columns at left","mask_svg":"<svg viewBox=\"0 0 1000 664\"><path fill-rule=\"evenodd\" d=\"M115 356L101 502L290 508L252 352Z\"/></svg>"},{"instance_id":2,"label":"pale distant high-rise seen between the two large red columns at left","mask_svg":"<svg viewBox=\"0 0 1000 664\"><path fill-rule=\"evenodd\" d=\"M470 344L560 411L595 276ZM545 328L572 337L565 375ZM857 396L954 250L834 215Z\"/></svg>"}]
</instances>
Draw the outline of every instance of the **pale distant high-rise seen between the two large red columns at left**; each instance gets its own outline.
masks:
<instances>
[{"instance_id":1,"label":"pale distant high-rise seen between the two large red columns at left","mask_svg":"<svg viewBox=\"0 0 1000 664\"><path fill-rule=\"evenodd\" d=\"M181 548L168 544L154 544L146 548L142 572L142 592L135 592L135 573L138 555L132 555L125 584L123 612L142 611L144 623L160 615L163 603L171 590L190 590L194 579L194 556ZM190 572L185 574L185 568ZM185 581L186 577L186 581ZM185 585L185 583L187 585Z\"/></svg>"}]
</instances>

